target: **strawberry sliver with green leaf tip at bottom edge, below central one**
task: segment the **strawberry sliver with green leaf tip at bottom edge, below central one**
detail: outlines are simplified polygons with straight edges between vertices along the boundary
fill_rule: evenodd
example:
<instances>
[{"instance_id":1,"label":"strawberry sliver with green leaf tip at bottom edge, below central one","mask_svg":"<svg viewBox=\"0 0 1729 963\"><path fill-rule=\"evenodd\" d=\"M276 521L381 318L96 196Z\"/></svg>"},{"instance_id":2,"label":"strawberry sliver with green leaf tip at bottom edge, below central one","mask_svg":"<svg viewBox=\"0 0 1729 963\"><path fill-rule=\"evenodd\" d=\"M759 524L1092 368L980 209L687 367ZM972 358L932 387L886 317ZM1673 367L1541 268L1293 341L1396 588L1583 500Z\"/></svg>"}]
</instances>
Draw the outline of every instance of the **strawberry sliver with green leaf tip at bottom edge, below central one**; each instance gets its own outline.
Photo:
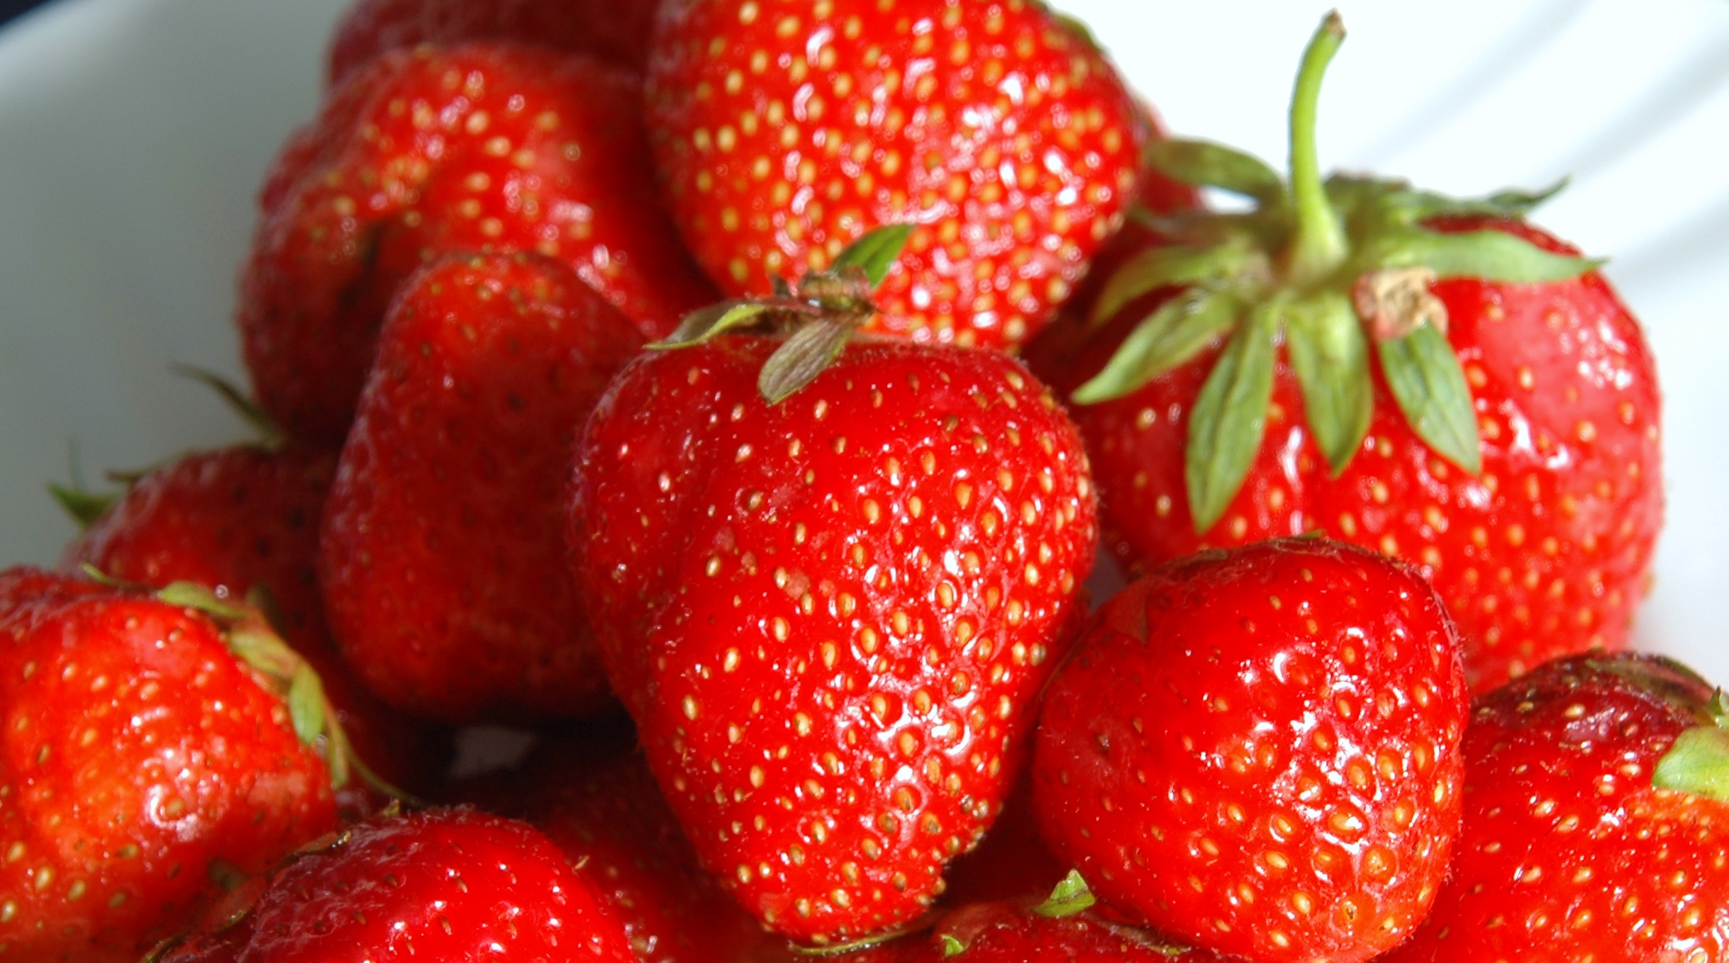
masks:
<instances>
[{"instance_id":1,"label":"strawberry sliver with green leaf tip at bottom edge, below central one","mask_svg":"<svg viewBox=\"0 0 1729 963\"><path fill-rule=\"evenodd\" d=\"M1050 899L975 902L944 915L928 934L903 937L851 960L856 963L1224 963L1093 913L1093 894L1070 873Z\"/></svg>"}]
</instances>

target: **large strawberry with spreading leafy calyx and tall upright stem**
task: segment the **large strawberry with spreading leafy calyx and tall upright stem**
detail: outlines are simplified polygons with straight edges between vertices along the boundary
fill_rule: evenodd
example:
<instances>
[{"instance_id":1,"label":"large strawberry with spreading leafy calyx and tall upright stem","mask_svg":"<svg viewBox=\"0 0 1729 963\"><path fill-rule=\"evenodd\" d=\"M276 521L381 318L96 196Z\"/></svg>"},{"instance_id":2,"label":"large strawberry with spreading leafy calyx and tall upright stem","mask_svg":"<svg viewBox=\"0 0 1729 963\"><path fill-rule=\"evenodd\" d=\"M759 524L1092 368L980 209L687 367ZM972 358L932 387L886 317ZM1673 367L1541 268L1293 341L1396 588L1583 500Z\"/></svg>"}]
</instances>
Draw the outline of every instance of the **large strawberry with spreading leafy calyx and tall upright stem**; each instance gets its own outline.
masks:
<instances>
[{"instance_id":1,"label":"large strawberry with spreading leafy calyx and tall upright stem","mask_svg":"<svg viewBox=\"0 0 1729 963\"><path fill-rule=\"evenodd\" d=\"M1314 111L1342 28L1304 61L1292 183L1215 145L1169 169L1260 199L1167 218L1094 306L1034 351L1077 389L1115 553L1321 531L1420 565L1473 686L1615 648L1662 517L1658 387L1639 325L1572 247L1520 216L1321 182ZM1058 325L1067 327L1067 325ZM1108 360L1108 363L1107 363Z\"/></svg>"}]
</instances>

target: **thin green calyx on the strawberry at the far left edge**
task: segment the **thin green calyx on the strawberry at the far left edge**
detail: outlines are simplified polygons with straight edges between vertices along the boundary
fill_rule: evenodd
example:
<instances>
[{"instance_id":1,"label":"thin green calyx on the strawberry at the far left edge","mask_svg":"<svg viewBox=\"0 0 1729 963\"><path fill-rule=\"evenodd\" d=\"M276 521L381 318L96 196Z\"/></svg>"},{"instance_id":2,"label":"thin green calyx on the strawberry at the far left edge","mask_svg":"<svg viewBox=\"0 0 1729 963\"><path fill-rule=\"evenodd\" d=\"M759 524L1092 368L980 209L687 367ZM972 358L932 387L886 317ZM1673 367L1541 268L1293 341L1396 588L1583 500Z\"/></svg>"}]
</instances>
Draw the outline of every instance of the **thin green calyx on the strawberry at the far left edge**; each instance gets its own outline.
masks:
<instances>
[{"instance_id":1,"label":"thin green calyx on the strawberry at the far left edge","mask_svg":"<svg viewBox=\"0 0 1729 963\"><path fill-rule=\"evenodd\" d=\"M335 707L325 695L323 679L271 624L270 612L275 605L266 591L254 590L244 602L237 602L195 583L178 581L152 590L109 577L90 564L83 565L83 572L102 584L150 593L159 602L192 609L216 622L228 652L256 671L266 688L287 704L294 735L323 757L330 769L332 788L342 788L358 776L394 800L417 804L412 795L386 781L354 754Z\"/></svg>"}]
</instances>

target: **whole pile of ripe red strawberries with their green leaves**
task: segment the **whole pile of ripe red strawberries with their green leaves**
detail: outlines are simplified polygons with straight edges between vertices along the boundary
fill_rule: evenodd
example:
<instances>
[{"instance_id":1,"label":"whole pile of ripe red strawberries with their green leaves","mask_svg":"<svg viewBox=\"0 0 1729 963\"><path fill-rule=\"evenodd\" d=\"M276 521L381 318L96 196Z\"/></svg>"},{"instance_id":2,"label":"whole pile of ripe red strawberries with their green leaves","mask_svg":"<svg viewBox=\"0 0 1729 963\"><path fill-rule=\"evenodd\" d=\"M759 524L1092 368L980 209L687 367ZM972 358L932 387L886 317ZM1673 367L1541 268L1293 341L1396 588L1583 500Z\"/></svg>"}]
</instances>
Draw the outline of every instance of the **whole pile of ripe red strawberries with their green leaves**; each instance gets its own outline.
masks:
<instances>
[{"instance_id":1,"label":"whole pile of ripe red strawberries with their green leaves","mask_svg":"<svg viewBox=\"0 0 1729 963\"><path fill-rule=\"evenodd\" d=\"M1641 330L1342 38L1281 176L1039 0L361 0L259 437L0 572L0 960L1729 960Z\"/></svg>"}]
</instances>

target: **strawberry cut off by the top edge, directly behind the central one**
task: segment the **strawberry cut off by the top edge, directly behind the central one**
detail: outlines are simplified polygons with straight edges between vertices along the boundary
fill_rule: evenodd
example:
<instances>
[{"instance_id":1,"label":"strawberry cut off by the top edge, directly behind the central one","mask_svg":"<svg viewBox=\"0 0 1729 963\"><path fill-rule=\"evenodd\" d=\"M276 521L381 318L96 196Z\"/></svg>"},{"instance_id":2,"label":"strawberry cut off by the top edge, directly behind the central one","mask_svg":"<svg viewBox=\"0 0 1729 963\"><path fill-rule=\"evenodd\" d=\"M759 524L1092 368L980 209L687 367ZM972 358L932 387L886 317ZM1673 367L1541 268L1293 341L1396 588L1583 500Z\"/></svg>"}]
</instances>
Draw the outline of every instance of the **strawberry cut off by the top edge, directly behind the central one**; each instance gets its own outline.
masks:
<instances>
[{"instance_id":1,"label":"strawberry cut off by the top edge, directly behind the central one","mask_svg":"<svg viewBox=\"0 0 1729 963\"><path fill-rule=\"evenodd\" d=\"M1134 202L1146 130L1029 0L667 0L647 99L667 206L730 294L918 223L871 330L982 348L1055 315Z\"/></svg>"}]
</instances>

